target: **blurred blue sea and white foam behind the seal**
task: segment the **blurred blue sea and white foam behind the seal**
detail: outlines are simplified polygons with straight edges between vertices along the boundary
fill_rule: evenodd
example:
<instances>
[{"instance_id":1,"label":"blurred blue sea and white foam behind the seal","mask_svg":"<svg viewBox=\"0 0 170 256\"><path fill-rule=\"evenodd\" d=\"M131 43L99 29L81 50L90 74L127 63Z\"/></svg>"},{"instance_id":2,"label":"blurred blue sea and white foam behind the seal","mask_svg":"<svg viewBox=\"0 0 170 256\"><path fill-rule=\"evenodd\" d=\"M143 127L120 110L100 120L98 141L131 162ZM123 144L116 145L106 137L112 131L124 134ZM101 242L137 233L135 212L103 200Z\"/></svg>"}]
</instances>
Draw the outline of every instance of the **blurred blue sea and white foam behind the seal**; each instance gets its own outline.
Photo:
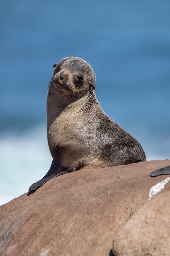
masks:
<instances>
[{"instance_id":1,"label":"blurred blue sea and white foam behind the seal","mask_svg":"<svg viewBox=\"0 0 170 256\"><path fill-rule=\"evenodd\" d=\"M170 157L170 1L1 1L0 205L48 171L46 94L53 64L77 56L96 96L142 145Z\"/></svg>"}]
</instances>

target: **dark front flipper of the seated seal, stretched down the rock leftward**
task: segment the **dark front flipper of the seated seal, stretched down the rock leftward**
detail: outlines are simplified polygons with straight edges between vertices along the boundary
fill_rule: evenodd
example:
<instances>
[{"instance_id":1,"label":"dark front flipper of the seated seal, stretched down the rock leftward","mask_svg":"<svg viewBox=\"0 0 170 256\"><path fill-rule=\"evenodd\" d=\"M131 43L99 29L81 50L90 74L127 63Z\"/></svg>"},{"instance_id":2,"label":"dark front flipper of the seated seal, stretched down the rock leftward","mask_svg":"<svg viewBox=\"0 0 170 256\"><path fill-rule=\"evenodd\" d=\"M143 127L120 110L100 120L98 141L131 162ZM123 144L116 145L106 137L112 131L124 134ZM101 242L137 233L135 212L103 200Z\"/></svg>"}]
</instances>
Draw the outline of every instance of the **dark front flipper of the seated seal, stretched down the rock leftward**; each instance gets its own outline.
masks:
<instances>
[{"instance_id":1,"label":"dark front flipper of the seated seal, stretched down the rock leftward","mask_svg":"<svg viewBox=\"0 0 170 256\"><path fill-rule=\"evenodd\" d=\"M33 185L31 185L31 187L29 187L29 191L33 191L33 190L36 190L37 188L41 187L42 185L44 185L44 183L46 183L48 180L51 180L57 176L60 176L60 175L63 175L63 174L66 174L66 173L69 173L69 172L74 172L76 171L76 168L73 167L73 168L70 168L70 169L67 169L67 170L64 170L63 172L59 172L59 173L55 173L55 174L52 174L52 175L49 175L47 176L47 174L39 181L33 183Z\"/></svg>"}]
</instances>

